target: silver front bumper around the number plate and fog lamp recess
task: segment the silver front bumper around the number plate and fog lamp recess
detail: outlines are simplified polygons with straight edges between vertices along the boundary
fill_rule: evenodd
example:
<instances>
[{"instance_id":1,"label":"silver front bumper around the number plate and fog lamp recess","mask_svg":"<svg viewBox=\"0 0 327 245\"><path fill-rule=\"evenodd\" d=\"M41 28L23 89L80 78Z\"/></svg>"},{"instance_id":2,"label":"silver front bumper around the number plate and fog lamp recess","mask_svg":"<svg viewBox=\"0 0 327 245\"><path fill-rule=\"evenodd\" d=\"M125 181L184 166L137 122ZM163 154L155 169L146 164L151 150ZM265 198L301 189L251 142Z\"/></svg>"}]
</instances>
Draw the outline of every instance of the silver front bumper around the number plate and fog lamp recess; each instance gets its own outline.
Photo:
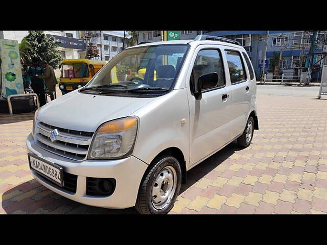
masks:
<instances>
[{"instance_id":1,"label":"silver front bumper around the number plate and fog lamp recess","mask_svg":"<svg viewBox=\"0 0 327 245\"><path fill-rule=\"evenodd\" d=\"M66 191L56 184L41 178L31 169L34 178L45 187L76 202L104 208L123 209L135 206L138 187L148 165L130 156L118 160L75 161L43 150L34 143L32 134L26 139L28 153L54 162L63 167L65 173L77 175L76 193ZM93 197L86 194L86 177L114 178L116 187L109 197Z\"/></svg>"}]
</instances>

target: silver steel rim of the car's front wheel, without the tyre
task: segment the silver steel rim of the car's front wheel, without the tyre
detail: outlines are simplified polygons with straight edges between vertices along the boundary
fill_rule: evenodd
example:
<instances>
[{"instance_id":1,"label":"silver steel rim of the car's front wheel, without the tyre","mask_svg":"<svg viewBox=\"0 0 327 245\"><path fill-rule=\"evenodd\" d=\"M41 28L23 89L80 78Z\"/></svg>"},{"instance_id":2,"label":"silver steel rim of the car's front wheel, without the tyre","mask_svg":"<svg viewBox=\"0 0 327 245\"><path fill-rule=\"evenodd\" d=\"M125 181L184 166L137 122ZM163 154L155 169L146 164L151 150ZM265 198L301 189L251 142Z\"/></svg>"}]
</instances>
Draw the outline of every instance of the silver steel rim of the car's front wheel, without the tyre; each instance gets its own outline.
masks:
<instances>
[{"instance_id":1,"label":"silver steel rim of the car's front wheel, without the tyre","mask_svg":"<svg viewBox=\"0 0 327 245\"><path fill-rule=\"evenodd\" d=\"M166 166L160 170L152 184L151 202L156 209L166 208L172 201L177 186L175 168Z\"/></svg>"}]
</instances>

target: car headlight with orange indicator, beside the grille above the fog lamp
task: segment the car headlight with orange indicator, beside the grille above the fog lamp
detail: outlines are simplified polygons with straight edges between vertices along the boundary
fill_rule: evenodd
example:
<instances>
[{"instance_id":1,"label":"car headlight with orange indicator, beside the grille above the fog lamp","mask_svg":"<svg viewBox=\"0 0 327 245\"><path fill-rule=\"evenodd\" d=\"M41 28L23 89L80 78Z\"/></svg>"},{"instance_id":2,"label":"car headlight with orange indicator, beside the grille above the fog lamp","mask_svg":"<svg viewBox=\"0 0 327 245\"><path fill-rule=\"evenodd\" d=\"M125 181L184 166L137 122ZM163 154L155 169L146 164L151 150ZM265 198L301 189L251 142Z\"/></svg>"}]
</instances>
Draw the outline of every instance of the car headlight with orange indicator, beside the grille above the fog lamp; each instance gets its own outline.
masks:
<instances>
[{"instance_id":1,"label":"car headlight with orange indicator, beside the grille above the fog lamp","mask_svg":"<svg viewBox=\"0 0 327 245\"><path fill-rule=\"evenodd\" d=\"M91 143L88 159L130 156L136 139L137 124L137 117L126 117L101 125Z\"/></svg>"}]
</instances>

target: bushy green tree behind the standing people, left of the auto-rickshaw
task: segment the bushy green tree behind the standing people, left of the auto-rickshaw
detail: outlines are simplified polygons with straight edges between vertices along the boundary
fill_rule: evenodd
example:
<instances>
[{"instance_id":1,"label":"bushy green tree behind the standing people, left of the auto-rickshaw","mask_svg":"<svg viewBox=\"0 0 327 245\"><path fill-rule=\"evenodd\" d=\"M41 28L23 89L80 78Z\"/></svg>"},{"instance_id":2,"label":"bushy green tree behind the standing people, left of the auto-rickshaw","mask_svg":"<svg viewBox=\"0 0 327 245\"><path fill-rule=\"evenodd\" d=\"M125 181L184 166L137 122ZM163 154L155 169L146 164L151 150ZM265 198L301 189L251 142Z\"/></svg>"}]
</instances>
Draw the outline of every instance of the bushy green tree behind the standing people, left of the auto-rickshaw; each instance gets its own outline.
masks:
<instances>
[{"instance_id":1,"label":"bushy green tree behind the standing people, left of the auto-rickshaw","mask_svg":"<svg viewBox=\"0 0 327 245\"><path fill-rule=\"evenodd\" d=\"M28 54L32 59L36 57L45 60L54 69L58 68L62 60L59 50L60 41L46 36L43 31L29 31L23 40L26 40L31 46Z\"/></svg>"}]
</instances>

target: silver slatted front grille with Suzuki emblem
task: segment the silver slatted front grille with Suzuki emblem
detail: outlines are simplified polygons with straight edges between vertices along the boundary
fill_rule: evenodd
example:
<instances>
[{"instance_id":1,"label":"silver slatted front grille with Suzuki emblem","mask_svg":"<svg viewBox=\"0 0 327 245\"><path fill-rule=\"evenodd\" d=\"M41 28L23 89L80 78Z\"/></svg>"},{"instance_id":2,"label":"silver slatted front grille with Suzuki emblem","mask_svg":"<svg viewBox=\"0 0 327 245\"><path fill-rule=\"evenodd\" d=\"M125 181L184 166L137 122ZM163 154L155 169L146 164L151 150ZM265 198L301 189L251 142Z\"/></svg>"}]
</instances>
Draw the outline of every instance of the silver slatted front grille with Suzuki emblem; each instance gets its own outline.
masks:
<instances>
[{"instance_id":1,"label":"silver slatted front grille with Suzuki emblem","mask_svg":"<svg viewBox=\"0 0 327 245\"><path fill-rule=\"evenodd\" d=\"M39 122L35 137L37 139L36 144L41 148L69 159L81 161L87 156L93 134L92 132L63 129Z\"/></svg>"}]
</instances>

